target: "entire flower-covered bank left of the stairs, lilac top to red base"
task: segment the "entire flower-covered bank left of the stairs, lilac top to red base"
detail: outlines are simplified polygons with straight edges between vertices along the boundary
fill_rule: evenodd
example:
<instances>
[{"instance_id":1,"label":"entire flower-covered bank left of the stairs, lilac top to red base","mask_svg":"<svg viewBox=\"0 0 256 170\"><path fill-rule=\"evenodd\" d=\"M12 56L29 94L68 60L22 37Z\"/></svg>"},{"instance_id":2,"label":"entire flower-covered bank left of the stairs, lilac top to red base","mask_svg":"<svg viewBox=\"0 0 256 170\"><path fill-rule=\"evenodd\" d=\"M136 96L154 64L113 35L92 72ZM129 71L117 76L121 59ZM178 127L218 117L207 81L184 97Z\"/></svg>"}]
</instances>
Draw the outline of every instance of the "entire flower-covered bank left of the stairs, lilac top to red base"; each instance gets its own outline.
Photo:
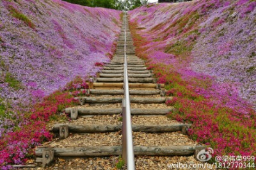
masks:
<instances>
[{"instance_id":1,"label":"entire flower-covered bank left of the stairs, lilac top to red base","mask_svg":"<svg viewBox=\"0 0 256 170\"><path fill-rule=\"evenodd\" d=\"M0 169L51 140L46 122L76 105L83 91L74 90L113 56L120 15L60 0L0 1Z\"/></svg>"}]
</instances>

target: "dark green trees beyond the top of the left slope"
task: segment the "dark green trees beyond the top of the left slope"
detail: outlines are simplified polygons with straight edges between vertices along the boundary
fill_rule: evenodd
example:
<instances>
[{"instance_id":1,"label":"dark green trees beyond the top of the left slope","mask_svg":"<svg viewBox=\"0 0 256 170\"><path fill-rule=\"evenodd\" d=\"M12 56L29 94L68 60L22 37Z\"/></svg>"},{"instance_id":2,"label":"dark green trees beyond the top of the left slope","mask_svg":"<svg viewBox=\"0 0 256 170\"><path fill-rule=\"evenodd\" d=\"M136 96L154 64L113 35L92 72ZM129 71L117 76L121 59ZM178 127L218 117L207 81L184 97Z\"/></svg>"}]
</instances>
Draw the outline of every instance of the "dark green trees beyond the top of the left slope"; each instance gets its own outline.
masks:
<instances>
[{"instance_id":1,"label":"dark green trees beyond the top of the left slope","mask_svg":"<svg viewBox=\"0 0 256 170\"><path fill-rule=\"evenodd\" d=\"M148 0L63 0L69 3L81 4L91 7L111 8L115 10L133 10L143 4L147 4Z\"/></svg>"}]
</instances>

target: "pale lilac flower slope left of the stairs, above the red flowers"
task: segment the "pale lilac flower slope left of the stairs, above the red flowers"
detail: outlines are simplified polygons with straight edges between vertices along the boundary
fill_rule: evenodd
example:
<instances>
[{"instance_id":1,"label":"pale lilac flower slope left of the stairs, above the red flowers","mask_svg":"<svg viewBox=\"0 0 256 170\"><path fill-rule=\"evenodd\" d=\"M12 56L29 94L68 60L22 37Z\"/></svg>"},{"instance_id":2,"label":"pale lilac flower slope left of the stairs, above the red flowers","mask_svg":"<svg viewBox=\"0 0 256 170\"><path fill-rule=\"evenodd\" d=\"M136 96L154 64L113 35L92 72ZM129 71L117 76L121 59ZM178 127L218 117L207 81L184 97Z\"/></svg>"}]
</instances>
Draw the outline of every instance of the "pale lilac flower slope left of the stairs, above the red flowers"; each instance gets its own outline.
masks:
<instances>
[{"instance_id":1,"label":"pale lilac flower slope left of the stairs, above the red flowers","mask_svg":"<svg viewBox=\"0 0 256 170\"><path fill-rule=\"evenodd\" d=\"M0 98L16 103L95 74L120 32L121 12L60 0L3 0L0 12Z\"/></svg>"}]
</instances>

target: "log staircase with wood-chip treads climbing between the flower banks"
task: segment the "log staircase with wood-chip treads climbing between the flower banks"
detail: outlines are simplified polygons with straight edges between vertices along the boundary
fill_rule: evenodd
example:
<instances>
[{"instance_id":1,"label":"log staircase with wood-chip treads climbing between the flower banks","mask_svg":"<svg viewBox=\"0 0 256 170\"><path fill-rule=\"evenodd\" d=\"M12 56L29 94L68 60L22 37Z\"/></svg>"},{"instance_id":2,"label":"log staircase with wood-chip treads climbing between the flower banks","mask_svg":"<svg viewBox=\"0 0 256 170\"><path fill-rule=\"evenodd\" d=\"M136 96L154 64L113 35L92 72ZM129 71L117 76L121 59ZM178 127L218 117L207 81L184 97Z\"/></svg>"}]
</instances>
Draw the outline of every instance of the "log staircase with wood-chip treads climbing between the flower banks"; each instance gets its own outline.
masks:
<instances>
[{"instance_id":1,"label":"log staircase with wood-chip treads climbing between the flower banks","mask_svg":"<svg viewBox=\"0 0 256 170\"><path fill-rule=\"evenodd\" d=\"M140 155L152 157L188 156L204 149L186 137L190 125L167 118L166 114L173 111L173 108L167 107L165 102L172 100L172 98L165 97L164 84L157 84L153 73L147 70L143 59L136 56L129 26L123 23L115 56L110 63L106 63L98 77L90 82L90 89L85 89L86 96L77 97L80 105L65 109L65 112L70 115L71 121L52 126L51 131L56 134L56 139L52 143L36 148L35 153L38 157L36 162L42 162L43 166L46 166L54 157L122 155L122 140L119 137L122 123L118 120L122 119L122 99L124 98L124 84L122 83L124 82L124 27L128 30L126 54L131 95L134 154L137 155L135 159ZM115 119L115 123L109 123L106 121L107 118ZM88 120L93 121L89 122ZM100 123L97 124L97 122ZM96 136L97 133L101 133L102 136L98 139L92 137L93 144L83 143L74 147L74 143L77 141L73 143L72 137L74 138L76 134L81 135L80 143L83 142L83 139L89 139L90 135ZM118 142L118 145L103 143L110 134L113 135L113 139ZM179 141L179 143L161 145L161 140L157 137L161 137L162 134L163 137L172 137L172 135L177 137L177 139L166 138L166 140ZM150 139L150 136L155 136L155 138ZM142 140L140 137L146 139ZM186 143L182 143L184 137ZM63 144L65 140L71 141L70 144Z\"/></svg>"}]
</instances>

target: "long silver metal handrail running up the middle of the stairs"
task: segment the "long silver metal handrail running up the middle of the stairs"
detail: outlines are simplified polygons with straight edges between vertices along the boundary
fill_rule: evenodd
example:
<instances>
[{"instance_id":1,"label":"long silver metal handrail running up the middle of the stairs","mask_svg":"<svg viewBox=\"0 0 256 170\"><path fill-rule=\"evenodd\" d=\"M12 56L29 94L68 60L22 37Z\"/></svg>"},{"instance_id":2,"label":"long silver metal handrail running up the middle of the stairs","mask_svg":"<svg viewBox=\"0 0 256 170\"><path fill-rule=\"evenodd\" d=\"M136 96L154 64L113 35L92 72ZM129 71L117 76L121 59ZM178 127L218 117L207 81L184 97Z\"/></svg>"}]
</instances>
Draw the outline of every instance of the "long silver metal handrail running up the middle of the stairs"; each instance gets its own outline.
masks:
<instances>
[{"instance_id":1,"label":"long silver metal handrail running up the middle of the stairs","mask_svg":"<svg viewBox=\"0 0 256 170\"><path fill-rule=\"evenodd\" d=\"M130 94L129 94L129 81L127 72L127 56L126 56L126 12L124 13L124 98L123 98L123 145L122 157L127 165L128 170L134 170L134 150L132 141L132 123L131 123L131 107L130 107Z\"/></svg>"}]
</instances>

